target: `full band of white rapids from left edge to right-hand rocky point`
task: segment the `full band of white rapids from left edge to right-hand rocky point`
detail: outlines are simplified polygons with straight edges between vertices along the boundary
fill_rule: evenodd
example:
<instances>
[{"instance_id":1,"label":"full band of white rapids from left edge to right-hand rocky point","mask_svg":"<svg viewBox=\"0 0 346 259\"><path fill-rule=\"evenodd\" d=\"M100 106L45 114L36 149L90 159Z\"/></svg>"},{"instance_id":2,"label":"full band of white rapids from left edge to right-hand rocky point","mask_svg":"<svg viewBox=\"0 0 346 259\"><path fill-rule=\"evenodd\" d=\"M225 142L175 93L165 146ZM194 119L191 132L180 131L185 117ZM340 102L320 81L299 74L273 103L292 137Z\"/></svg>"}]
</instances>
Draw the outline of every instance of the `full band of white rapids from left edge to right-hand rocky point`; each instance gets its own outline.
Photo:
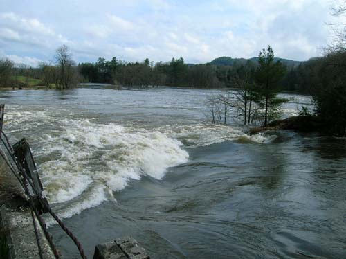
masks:
<instances>
[{"instance_id":1,"label":"full band of white rapids from left edge to right-hand rocky point","mask_svg":"<svg viewBox=\"0 0 346 259\"><path fill-rule=\"evenodd\" d=\"M25 131L30 136L44 128L40 136L31 136L33 151L46 197L65 218L113 199L113 192L133 179L163 179L168 168L188 161L183 146L196 148L239 139L269 143L275 138L249 136L240 127L167 125L148 130L92 123L71 115L59 118L56 111L17 111L13 107L6 114L10 131L30 125Z\"/></svg>"}]
</instances>

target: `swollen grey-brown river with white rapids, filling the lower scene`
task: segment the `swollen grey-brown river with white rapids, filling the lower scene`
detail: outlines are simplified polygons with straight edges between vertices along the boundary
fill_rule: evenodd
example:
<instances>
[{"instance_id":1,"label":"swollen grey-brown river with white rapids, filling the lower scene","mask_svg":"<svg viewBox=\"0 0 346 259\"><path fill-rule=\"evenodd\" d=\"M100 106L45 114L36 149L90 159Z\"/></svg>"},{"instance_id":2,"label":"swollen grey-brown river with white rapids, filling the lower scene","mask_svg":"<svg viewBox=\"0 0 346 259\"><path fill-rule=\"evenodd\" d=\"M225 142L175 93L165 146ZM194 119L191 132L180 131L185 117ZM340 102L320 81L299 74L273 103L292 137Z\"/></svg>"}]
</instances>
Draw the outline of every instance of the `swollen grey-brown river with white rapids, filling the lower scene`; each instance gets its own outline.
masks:
<instances>
[{"instance_id":1,"label":"swollen grey-brown river with white rapids, filling the lower scene","mask_svg":"<svg viewBox=\"0 0 346 259\"><path fill-rule=\"evenodd\" d=\"M89 258L131 235L152 258L346 258L346 140L206 123L217 90L1 91L45 194ZM287 95L284 116L311 105ZM59 226L64 258L78 258Z\"/></svg>"}]
</instances>

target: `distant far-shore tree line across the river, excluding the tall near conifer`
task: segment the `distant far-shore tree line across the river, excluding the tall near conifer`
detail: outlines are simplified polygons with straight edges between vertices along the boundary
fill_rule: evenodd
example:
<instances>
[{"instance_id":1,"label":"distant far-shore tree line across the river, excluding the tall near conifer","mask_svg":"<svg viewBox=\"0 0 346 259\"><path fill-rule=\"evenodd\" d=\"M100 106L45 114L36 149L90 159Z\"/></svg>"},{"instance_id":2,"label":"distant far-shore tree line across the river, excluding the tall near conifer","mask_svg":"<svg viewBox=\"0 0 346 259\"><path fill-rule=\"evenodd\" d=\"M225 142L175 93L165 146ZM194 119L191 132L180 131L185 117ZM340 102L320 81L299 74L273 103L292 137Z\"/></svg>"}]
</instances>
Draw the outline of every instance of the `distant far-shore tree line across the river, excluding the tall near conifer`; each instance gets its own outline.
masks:
<instances>
[{"instance_id":1,"label":"distant far-shore tree line across the river, excluding the tall near conifer","mask_svg":"<svg viewBox=\"0 0 346 259\"><path fill-rule=\"evenodd\" d=\"M277 62L275 58L274 62ZM317 57L301 62L298 66L282 65L284 75L280 78L280 91L311 94L320 83L318 68L325 57ZM42 62L33 68L15 65L9 59L0 59L0 86L25 87L29 78L39 80L48 88L68 89L79 82L108 83L125 87L176 86L196 88L238 88L243 71L255 71L260 59L234 62L232 66L207 64L186 64L183 58L172 58L170 62L156 62L145 59L143 62L125 62L113 57L97 62L76 64L67 46L57 49L53 62ZM16 80L18 76L23 80ZM251 81L255 80L250 73Z\"/></svg>"}]
</instances>

